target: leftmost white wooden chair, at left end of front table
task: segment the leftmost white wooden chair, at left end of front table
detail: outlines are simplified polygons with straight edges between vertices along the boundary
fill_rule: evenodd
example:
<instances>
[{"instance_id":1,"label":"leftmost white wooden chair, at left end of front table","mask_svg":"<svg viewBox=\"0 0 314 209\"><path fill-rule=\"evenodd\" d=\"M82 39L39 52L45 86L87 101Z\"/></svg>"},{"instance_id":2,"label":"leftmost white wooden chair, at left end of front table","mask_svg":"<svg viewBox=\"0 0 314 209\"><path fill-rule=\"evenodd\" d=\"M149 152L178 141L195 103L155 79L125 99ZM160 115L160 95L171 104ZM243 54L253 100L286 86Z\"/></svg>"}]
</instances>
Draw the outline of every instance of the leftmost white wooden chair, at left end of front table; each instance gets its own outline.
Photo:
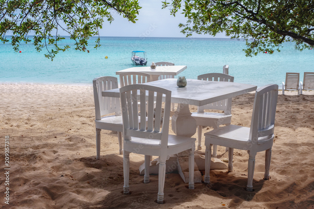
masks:
<instances>
[{"instance_id":1,"label":"leftmost white wooden chair, at left end of front table","mask_svg":"<svg viewBox=\"0 0 314 209\"><path fill-rule=\"evenodd\" d=\"M100 131L111 130L118 132L119 154L122 149L122 116L119 98L102 97L101 91L118 88L116 77L104 76L93 80L94 101L95 101L95 124L96 124L96 159L100 159ZM115 115L101 117L106 114Z\"/></svg>"}]
</instances>

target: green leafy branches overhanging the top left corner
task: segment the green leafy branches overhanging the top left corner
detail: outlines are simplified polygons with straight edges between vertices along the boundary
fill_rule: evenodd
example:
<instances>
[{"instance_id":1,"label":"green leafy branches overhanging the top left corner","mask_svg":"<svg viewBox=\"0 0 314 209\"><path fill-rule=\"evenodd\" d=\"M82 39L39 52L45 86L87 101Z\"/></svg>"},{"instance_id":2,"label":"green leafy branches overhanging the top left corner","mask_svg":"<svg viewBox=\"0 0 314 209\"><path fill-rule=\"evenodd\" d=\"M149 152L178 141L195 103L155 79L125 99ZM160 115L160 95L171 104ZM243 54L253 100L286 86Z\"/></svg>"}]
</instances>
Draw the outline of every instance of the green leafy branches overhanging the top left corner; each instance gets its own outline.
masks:
<instances>
[{"instance_id":1,"label":"green leafy branches overhanging the top left corner","mask_svg":"<svg viewBox=\"0 0 314 209\"><path fill-rule=\"evenodd\" d=\"M103 19L111 23L113 11L135 23L140 8L137 0L0 0L0 41L8 42L5 35L12 32L11 44L17 51L19 43L31 42L28 35L35 33L36 50L46 48L45 56L53 60L59 51L70 48L58 46L64 39L58 34L60 29L75 40L76 50L87 50L89 37L98 35L97 48Z\"/></svg>"}]
</instances>

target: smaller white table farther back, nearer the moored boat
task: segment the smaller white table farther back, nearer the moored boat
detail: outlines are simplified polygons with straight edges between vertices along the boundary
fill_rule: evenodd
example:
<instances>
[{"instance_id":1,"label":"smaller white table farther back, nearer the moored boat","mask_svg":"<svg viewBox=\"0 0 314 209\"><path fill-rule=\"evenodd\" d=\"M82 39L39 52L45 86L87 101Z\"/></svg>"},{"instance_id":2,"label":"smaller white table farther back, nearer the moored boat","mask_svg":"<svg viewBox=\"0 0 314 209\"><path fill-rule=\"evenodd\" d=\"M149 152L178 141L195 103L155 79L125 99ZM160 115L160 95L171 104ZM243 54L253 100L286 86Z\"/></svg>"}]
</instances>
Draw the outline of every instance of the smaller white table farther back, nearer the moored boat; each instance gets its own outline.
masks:
<instances>
[{"instance_id":1,"label":"smaller white table farther back, nearer the moored boat","mask_svg":"<svg viewBox=\"0 0 314 209\"><path fill-rule=\"evenodd\" d=\"M143 72L150 75L150 81L157 81L160 75L176 76L187 69L187 65L157 66L155 69L146 67L131 67L125 70L116 71L116 75L124 72Z\"/></svg>"}]
</instances>

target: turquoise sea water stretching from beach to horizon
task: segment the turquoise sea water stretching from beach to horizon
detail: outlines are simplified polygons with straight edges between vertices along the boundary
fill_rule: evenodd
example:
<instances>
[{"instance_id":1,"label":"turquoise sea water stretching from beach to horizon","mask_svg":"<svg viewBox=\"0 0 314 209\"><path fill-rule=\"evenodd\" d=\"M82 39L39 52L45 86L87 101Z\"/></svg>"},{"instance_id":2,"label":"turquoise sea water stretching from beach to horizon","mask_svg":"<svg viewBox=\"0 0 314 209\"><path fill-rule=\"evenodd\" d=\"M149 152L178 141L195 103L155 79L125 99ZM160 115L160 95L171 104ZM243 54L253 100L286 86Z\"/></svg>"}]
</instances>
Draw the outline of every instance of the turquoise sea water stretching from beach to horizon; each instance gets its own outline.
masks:
<instances>
[{"instance_id":1,"label":"turquoise sea water stretching from beach to horizon","mask_svg":"<svg viewBox=\"0 0 314 209\"><path fill-rule=\"evenodd\" d=\"M297 51L293 43L285 43L281 52L273 55L246 57L242 51L245 42L230 39L101 37L102 46L97 50L95 39L89 41L90 53L74 50L74 42L64 39L59 46L72 47L53 61L45 58L44 49L39 53L30 43L21 44L21 53L8 43L0 44L0 82L91 85L95 77L116 76L116 71L133 67L133 50L146 51L148 65L152 61L187 65L180 76L192 79L204 73L222 73L223 65L229 65L235 82L258 87L275 83L281 88L286 72L299 72L303 81L303 72L314 71L314 50Z\"/></svg>"}]
</instances>

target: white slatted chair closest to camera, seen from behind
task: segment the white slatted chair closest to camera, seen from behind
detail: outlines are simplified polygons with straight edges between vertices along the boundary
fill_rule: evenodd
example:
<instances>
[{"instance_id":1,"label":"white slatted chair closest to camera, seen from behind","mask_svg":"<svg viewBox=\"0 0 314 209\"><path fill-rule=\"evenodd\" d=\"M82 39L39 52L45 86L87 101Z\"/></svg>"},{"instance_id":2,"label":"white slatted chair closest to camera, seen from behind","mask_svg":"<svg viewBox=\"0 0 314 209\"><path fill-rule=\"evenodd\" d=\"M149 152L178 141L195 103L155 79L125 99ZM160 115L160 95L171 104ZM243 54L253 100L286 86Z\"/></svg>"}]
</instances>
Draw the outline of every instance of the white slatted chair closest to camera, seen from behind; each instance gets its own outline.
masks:
<instances>
[{"instance_id":1,"label":"white slatted chair closest to camera, seen from behind","mask_svg":"<svg viewBox=\"0 0 314 209\"><path fill-rule=\"evenodd\" d=\"M148 93L148 97L146 94ZM160 130L162 97L165 97L164 119ZM195 138L169 135L171 91L145 84L134 84L120 88L123 118L123 193L129 194L129 154L145 155L144 183L149 183L149 156L160 156L158 203L163 203L165 184L165 162L167 155L189 150L189 188L194 189L194 150ZM155 97L155 99L154 99ZM140 101L141 112L148 102L148 123L143 116L138 120L137 105ZM156 102L154 118L154 102ZM139 125L140 122L140 125Z\"/></svg>"}]
</instances>

